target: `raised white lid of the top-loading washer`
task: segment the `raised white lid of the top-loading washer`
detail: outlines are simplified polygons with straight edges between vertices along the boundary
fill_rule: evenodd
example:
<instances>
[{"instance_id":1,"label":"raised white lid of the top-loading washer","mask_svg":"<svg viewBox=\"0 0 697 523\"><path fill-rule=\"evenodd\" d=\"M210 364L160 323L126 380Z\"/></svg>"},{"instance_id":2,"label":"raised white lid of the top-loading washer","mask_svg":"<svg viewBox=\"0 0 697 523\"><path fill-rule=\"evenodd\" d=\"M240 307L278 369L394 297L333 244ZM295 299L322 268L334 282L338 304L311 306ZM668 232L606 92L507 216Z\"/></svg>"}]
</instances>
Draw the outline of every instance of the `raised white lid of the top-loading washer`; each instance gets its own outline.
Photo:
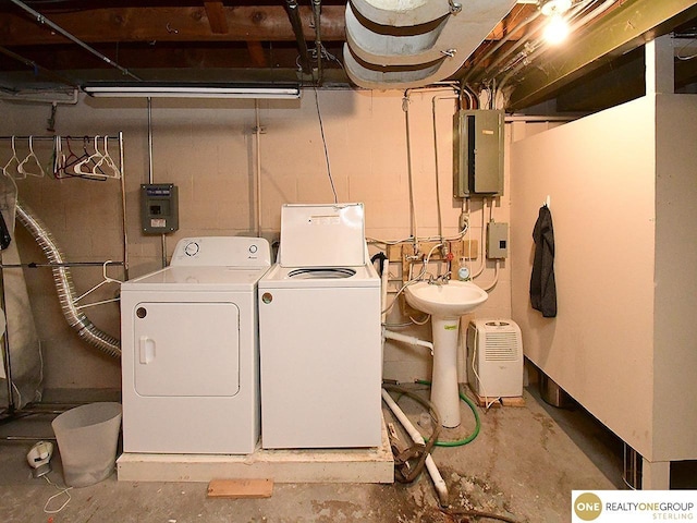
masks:
<instances>
[{"instance_id":1,"label":"raised white lid of the top-loading washer","mask_svg":"<svg viewBox=\"0 0 697 523\"><path fill-rule=\"evenodd\" d=\"M363 204L281 208L279 264L283 267L352 267L366 263Z\"/></svg>"}]
</instances>

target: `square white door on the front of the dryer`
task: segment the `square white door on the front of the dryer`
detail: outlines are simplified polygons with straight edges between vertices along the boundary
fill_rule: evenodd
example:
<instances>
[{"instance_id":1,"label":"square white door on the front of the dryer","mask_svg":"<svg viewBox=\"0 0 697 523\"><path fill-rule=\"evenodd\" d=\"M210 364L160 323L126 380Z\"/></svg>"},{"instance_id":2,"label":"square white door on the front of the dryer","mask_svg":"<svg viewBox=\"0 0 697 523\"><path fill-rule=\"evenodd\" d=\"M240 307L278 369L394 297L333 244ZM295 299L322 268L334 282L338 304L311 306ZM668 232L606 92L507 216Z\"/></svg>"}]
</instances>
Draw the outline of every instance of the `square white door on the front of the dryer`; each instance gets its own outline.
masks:
<instances>
[{"instance_id":1,"label":"square white door on the front of the dryer","mask_svg":"<svg viewBox=\"0 0 697 523\"><path fill-rule=\"evenodd\" d=\"M240 390L234 303L142 302L133 309L135 390L146 397L230 397Z\"/></svg>"}]
</instances>

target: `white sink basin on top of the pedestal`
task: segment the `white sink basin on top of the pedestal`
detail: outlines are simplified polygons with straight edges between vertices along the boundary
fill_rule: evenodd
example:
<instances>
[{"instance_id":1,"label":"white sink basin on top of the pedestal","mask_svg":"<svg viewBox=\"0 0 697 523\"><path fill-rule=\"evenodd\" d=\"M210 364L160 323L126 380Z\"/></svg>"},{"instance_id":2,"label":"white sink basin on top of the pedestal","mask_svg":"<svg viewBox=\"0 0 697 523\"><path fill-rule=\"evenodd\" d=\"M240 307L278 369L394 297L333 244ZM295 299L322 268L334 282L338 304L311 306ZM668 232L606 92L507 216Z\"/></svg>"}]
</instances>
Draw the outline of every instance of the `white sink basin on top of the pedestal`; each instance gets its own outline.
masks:
<instances>
[{"instance_id":1,"label":"white sink basin on top of the pedestal","mask_svg":"<svg viewBox=\"0 0 697 523\"><path fill-rule=\"evenodd\" d=\"M474 311L487 301L487 291L470 281L452 280L438 284L419 281L405 290L406 301L414 308L438 318L454 319Z\"/></svg>"}]
</instances>

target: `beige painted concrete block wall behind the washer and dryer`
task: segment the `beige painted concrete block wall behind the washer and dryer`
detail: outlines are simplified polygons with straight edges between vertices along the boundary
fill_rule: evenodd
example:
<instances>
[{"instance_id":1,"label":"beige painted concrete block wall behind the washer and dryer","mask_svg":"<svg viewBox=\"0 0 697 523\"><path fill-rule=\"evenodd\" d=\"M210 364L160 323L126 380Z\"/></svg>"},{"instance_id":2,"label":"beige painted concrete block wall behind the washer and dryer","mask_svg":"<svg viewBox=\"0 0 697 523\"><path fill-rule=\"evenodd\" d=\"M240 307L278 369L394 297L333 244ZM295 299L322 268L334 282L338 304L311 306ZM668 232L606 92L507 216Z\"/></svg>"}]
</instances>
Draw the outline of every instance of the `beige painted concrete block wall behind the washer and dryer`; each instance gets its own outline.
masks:
<instances>
[{"instance_id":1,"label":"beige painted concrete block wall behind the washer and dryer","mask_svg":"<svg viewBox=\"0 0 697 523\"><path fill-rule=\"evenodd\" d=\"M409 134L414 205L419 236L437 233L436 168L432 97L447 90L411 94ZM319 90L318 101L327 141L331 175L340 202L363 202L366 233L399 240L411 233L408 162L402 93ZM452 198L453 100L436 104L440 195L443 233L454 235L462 203ZM45 135L49 106L0 102L2 135ZM278 240L284 203L327 203L333 193L327 173L316 93L306 89L301 100L259 101L260 133L252 100L152 100L152 178L180 188L180 230L167 236L167 254L176 241L192 235L257 234L257 145L260 158L261 234ZM139 184L148 181L147 106L145 100L81 98L76 106L59 106L56 131L60 135L124 133L126 232L130 277L161 266L161 239L139 228ZM78 144L80 146L80 144ZM0 143L0 156L9 155ZM110 149L110 153L111 149ZM48 162L48 151L39 154ZM5 160L1 160L4 165ZM508 181L506 181L508 183ZM119 187L113 181L17 181L21 196L34 208L61 243L69 259L122 259ZM509 221L509 199L497 202L493 216ZM472 204L470 234L480 238L481 202ZM486 219L489 218L489 210ZM24 260L41 255L23 231L17 231ZM376 247L370 248L371 253ZM26 255L24 253L27 253ZM168 258L169 259L169 258ZM475 262L473 265L478 264ZM399 268L391 273L400 277ZM110 276L121 278L118 269ZM78 292L101 279L101 268L74 270ZM480 282L493 279L487 263ZM46 386L50 388L119 387L118 362L86 346L65 326L47 271L27 273L34 314L44 340ZM105 285L94 299L112 297ZM392 295L390 296L391 300ZM119 336L118 304L87 309L102 330ZM510 277L503 262L499 283L478 316L510 317ZM403 321L392 313L390 320ZM428 326L402 329L430 339ZM400 380L430 376L430 356L404 345L384 348L386 377Z\"/></svg>"}]
</instances>

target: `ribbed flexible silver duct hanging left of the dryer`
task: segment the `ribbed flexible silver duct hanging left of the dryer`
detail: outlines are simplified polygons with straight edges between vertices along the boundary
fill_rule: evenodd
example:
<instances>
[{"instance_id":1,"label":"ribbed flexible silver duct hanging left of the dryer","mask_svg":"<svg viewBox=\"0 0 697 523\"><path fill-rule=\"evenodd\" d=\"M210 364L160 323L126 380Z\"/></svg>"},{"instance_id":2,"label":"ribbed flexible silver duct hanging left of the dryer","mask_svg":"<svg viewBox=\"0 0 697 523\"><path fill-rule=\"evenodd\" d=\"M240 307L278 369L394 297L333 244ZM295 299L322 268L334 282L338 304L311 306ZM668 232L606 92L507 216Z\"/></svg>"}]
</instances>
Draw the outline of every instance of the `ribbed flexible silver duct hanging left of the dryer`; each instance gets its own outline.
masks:
<instances>
[{"instance_id":1,"label":"ribbed flexible silver duct hanging left of the dryer","mask_svg":"<svg viewBox=\"0 0 697 523\"><path fill-rule=\"evenodd\" d=\"M53 271L53 281L58 291L58 299L63 311L63 316L69 325L77 331L77 335L93 346L109 354L112 357L121 357L121 344L118 339L99 330L89 320L89 318L77 309L75 306L75 297L77 293L73 284L73 278L70 267L65 264L65 258L61 253L56 240L48 231L46 226L33 216L27 206L17 199L16 217L20 223L34 236L36 243L41 247L46 258L51 265Z\"/></svg>"}]
</instances>

